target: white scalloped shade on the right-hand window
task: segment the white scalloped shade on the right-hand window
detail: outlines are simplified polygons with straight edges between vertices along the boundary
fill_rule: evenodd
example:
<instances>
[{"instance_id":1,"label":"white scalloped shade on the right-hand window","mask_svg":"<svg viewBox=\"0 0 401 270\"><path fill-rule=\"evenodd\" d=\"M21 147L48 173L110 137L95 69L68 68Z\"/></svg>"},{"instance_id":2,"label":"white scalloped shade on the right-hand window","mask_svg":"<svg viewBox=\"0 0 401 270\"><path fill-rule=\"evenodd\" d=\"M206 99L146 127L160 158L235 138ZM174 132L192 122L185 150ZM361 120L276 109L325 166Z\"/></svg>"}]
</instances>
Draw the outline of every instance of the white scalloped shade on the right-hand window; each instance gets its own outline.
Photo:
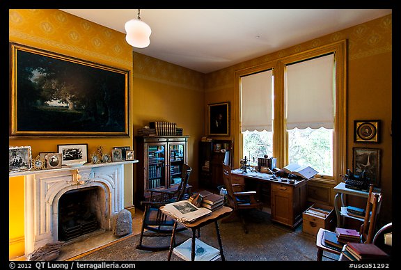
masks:
<instances>
[{"instance_id":1,"label":"white scalloped shade on the right-hand window","mask_svg":"<svg viewBox=\"0 0 401 270\"><path fill-rule=\"evenodd\" d=\"M286 67L287 129L334 126L333 54Z\"/></svg>"}]
</instances>

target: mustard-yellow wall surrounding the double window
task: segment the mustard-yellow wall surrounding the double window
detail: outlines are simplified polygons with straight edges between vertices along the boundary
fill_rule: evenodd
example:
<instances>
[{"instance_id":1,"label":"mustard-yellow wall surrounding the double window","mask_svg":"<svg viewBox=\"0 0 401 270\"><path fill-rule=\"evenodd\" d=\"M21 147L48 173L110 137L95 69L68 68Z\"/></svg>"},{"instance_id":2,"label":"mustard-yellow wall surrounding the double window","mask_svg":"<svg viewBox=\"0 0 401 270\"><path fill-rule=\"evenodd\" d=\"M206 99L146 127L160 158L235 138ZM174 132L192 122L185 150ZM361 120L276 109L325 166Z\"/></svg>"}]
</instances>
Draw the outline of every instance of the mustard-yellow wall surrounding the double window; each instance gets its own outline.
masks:
<instances>
[{"instance_id":1,"label":"mustard-yellow wall surrounding the double window","mask_svg":"<svg viewBox=\"0 0 401 270\"><path fill-rule=\"evenodd\" d=\"M231 132L238 108L234 104L235 71L260 65L267 61L296 54L338 40L347 39L347 168L352 169L352 148L379 148L382 150L381 187L384 201L382 218L391 221L392 216L392 141L391 141L391 95L392 95L392 15L359 24L336 33L266 54L251 61L227 67L205 75L205 105L214 102L231 103ZM205 115L205 119L207 116ZM377 144L354 143L354 120L381 120L381 141ZM205 126L207 122L205 122ZM238 151L238 141L235 141ZM235 164L239 164L236 151ZM344 172L345 173L345 172Z\"/></svg>"}]
</instances>

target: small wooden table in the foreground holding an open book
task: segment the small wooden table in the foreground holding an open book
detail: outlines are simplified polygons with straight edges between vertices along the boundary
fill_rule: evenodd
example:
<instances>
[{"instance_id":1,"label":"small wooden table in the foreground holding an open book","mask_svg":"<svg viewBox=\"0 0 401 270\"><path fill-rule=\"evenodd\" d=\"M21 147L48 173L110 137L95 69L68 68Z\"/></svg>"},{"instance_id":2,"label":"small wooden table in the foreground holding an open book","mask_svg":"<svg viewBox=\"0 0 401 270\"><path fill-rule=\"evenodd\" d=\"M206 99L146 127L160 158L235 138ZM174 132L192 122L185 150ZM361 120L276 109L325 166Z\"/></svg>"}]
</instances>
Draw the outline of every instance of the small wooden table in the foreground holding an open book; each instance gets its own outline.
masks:
<instances>
[{"instance_id":1,"label":"small wooden table in the foreground holding an open book","mask_svg":"<svg viewBox=\"0 0 401 270\"><path fill-rule=\"evenodd\" d=\"M160 207L160 209L163 211L163 207ZM182 222L178 221L177 219L174 219L173 216L171 216L171 218L174 219L175 222L174 222L174 226L173 226L173 234L171 235L170 250L168 251L167 260L169 261L171 259L171 254L173 253L173 248L174 248L174 243L175 243L175 232L176 232L178 223L180 223L180 224L184 225L184 227L192 230L191 260L194 261L195 260L196 230L202 228L203 226L205 226L207 224L214 222L214 224L216 225L217 241L219 241L221 260L225 261L226 259L224 257L224 253L223 253L223 245L221 244L219 223L217 223L217 221L219 219L222 219L225 216L228 216L232 211L233 211L233 209L231 209L230 207L223 206L223 207L213 211L212 214L205 216L205 217L201 217L192 223L182 223ZM167 213L165 213L165 214L167 214Z\"/></svg>"}]
</instances>

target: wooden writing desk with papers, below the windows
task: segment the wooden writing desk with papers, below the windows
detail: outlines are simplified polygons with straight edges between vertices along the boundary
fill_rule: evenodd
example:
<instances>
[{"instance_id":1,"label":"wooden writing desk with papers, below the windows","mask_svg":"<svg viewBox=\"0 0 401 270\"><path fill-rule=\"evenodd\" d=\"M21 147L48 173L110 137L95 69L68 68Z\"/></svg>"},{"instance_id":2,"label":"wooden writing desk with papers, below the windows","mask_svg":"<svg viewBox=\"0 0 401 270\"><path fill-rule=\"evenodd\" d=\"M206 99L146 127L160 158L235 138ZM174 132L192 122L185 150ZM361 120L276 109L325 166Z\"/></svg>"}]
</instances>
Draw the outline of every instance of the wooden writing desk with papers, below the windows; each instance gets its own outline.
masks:
<instances>
[{"instance_id":1,"label":"wooden writing desk with papers, below the windows","mask_svg":"<svg viewBox=\"0 0 401 270\"><path fill-rule=\"evenodd\" d=\"M250 172L243 173L242 169L231 170L233 183L245 184L254 181L260 186L270 186L270 207L272 209L272 221L276 221L290 228L295 228L302 221L302 213L306 210L306 183L308 180L296 180L294 184L288 179L277 177L267 173ZM284 182L286 181L286 182Z\"/></svg>"}]
</instances>

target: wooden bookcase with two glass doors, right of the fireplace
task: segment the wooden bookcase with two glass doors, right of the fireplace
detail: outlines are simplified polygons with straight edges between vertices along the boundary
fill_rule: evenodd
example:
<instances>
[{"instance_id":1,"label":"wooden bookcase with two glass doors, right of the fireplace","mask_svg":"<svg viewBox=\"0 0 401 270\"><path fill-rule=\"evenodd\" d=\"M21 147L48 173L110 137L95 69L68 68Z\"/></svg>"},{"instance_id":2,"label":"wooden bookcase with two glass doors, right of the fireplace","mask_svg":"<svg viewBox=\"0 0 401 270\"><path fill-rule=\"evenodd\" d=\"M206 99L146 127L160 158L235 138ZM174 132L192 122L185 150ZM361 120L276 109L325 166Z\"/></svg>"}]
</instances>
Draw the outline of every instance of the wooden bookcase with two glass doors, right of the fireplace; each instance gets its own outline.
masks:
<instances>
[{"instance_id":1,"label":"wooden bookcase with two glass doors, right of the fireplace","mask_svg":"<svg viewBox=\"0 0 401 270\"><path fill-rule=\"evenodd\" d=\"M135 206L150 196L148 189L173 190L181 182L188 159L189 136L136 136Z\"/></svg>"}]
</instances>

